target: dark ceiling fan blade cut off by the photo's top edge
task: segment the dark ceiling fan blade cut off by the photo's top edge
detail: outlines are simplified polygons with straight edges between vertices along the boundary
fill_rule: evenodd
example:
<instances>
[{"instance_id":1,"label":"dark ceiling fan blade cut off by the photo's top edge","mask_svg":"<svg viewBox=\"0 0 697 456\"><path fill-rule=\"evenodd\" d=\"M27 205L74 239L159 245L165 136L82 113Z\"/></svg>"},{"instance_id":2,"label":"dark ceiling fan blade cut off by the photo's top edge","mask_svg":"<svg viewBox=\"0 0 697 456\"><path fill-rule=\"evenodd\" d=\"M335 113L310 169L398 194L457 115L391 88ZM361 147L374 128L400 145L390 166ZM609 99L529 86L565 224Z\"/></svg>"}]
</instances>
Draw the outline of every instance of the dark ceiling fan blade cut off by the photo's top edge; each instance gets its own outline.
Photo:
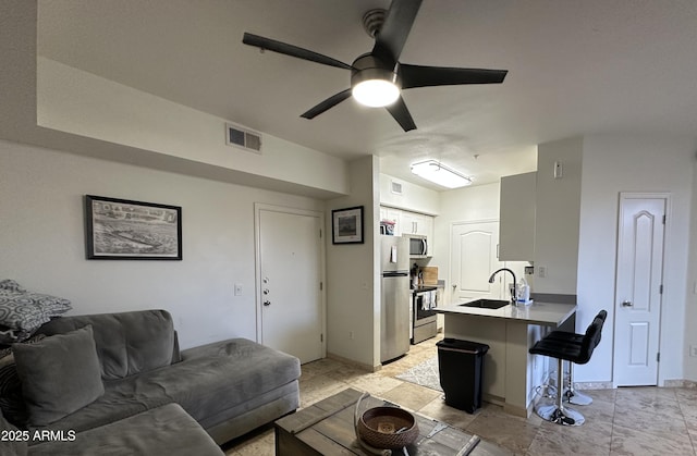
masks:
<instances>
[{"instance_id":1,"label":"dark ceiling fan blade cut off by the photo's top edge","mask_svg":"<svg viewBox=\"0 0 697 456\"><path fill-rule=\"evenodd\" d=\"M392 0L372 48L372 53L390 66L400 59L420 5L421 0Z\"/></svg>"}]
</instances>

